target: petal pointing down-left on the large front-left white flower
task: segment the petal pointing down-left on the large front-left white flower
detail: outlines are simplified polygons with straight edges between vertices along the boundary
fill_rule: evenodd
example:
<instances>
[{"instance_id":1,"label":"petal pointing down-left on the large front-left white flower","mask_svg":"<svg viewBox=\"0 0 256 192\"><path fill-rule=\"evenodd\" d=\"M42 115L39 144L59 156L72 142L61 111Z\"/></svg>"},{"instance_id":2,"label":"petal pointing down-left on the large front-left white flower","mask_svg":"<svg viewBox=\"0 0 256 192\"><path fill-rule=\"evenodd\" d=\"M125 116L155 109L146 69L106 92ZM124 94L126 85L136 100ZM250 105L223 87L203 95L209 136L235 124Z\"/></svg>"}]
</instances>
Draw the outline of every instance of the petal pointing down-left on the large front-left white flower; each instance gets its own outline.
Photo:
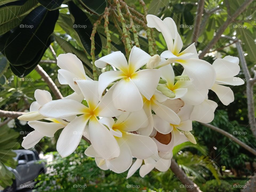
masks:
<instances>
[{"instance_id":1,"label":"petal pointing down-left on the large front-left white flower","mask_svg":"<svg viewBox=\"0 0 256 192\"><path fill-rule=\"evenodd\" d=\"M80 115L61 131L56 145L61 157L67 157L75 151L81 141L88 120L88 115Z\"/></svg>"}]
</instances>

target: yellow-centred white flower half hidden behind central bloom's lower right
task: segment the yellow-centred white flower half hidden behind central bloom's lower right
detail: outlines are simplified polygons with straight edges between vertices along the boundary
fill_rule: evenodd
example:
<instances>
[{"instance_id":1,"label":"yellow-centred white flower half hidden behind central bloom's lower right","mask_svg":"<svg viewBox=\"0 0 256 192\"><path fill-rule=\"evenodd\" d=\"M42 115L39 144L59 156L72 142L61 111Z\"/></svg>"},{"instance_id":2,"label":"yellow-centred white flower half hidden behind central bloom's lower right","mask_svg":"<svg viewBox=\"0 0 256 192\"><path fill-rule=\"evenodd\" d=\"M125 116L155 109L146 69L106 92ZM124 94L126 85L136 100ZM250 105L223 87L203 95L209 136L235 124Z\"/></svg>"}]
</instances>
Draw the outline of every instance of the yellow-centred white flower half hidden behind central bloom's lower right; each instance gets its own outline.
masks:
<instances>
[{"instance_id":1,"label":"yellow-centred white flower half hidden behind central bloom's lower right","mask_svg":"<svg viewBox=\"0 0 256 192\"><path fill-rule=\"evenodd\" d=\"M156 115L159 116L159 118L165 121L168 121L169 123L174 123L174 124L180 123L181 120L179 116L169 106L168 97L163 95L160 91L155 90L155 93L150 98L150 100L144 97L143 101L144 101L143 109L149 119L149 125L147 127L139 129L139 132L141 132L143 135L149 136L153 131L154 122L153 122L153 116L151 112L152 110L155 112ZM173 100L173 101L176 101L176 100Z\"/></svg>"}]
</instances>

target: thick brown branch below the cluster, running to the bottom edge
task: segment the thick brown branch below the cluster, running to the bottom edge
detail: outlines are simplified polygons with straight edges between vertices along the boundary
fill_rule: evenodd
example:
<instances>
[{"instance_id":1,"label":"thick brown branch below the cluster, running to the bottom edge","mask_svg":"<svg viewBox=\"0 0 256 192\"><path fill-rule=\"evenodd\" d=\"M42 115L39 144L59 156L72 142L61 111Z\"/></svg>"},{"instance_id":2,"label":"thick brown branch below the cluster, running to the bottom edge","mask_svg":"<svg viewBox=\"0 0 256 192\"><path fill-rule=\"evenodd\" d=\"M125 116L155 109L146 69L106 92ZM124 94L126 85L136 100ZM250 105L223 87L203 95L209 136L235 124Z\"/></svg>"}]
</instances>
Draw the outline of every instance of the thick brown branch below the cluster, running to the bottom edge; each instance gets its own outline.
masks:
<instances>
[{"instance_id":1,"label":"thick brown branch below the cluster, running to the bottom edge","mask_svg":"<svg viewBox=\"0 0 256 192\"><path fill-rule=\"evenodd\" d=\"M186 190L188 192L202 192L197 184L191 181L186 173L179 167L178 163L174 159L171 159L171 171L175 174L175 176L185 185Z\"/></svg>"}]
</instances>

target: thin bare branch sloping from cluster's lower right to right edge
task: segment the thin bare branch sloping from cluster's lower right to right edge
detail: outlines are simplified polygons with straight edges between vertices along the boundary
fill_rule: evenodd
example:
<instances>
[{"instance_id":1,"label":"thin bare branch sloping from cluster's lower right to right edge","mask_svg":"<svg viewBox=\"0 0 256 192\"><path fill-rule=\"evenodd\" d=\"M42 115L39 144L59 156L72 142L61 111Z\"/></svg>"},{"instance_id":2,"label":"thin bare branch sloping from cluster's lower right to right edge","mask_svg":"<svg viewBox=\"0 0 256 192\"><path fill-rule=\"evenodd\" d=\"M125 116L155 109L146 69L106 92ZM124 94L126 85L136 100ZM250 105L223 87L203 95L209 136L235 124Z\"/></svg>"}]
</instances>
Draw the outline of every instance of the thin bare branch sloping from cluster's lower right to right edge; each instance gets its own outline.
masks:
<instances>
[{"instance_id":1,"label":"thin bare branch sloping from cluster's lower right to right edge","mask_svg":"<svg viewBox=\"0 0 256 192\"><path fill-rule=\"evenodd\" d=\"M256 155L256 150L254 150L253 148L251 148L249 145L246 145L244 142L240 141L239 139L237 139L236 137L234 137L233 135L231 135L230 133L228 133L227 131L224 131L218 127L215 127L209 123L201 123L202 125L209 127L210 129L217 131L218 133L221 133L222 135L225 135L226 137L230 138L232 141L236 142L238 145L240 145L241 147L243 147L244 149L246 149L247 151L251 152L252 154Z\"/></svg>"}]
</instances>

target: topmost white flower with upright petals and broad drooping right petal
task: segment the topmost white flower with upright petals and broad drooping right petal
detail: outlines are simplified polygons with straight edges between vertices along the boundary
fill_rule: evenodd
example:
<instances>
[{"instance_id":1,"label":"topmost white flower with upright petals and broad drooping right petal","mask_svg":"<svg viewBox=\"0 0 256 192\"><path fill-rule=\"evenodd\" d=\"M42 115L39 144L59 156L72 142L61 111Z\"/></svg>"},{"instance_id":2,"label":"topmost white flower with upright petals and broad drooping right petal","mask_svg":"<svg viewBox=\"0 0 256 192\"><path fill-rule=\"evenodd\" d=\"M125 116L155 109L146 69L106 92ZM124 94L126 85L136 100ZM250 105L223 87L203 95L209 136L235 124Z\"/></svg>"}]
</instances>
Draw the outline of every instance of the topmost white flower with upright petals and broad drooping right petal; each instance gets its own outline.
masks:
<instances>
[{"instance_id":1,"label":"topmost white flower with upright petals and broad drooping right petal","mask_svg":"<svg viewBox=\"0 0 256 192\"><path fill-rule=\"evenodd\" d=\"M173 19L166 17L162 21L155 15L147 15L146 19L147 26L160 31L167 44L168 50L163 51L160 56L167 58L167 63L175 62L181 64L196 89L210 89L213 86L213 79L215 78L212 65L198 58L194 43L180 52L183 42Z\"/></svg>"}]
</instances>

